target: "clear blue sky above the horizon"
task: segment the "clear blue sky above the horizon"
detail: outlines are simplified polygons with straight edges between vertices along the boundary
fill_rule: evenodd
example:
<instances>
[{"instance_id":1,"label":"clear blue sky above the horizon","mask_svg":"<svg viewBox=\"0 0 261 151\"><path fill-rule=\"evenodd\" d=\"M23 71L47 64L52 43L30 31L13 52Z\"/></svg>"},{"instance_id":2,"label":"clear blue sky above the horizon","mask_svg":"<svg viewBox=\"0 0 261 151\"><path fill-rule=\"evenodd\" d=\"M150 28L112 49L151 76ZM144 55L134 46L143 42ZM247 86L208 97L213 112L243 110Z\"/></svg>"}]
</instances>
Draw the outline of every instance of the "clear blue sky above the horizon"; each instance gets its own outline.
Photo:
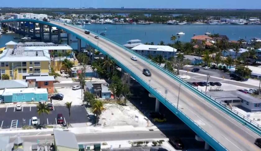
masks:
<instances>
[{"instance_id":1,"label":"clear blue sky above the horizon","mask_svg":"<svg viewBox=\"0 0 261 151\"><path fill-rule=\"evenodd\" d=\"M0 7L261 9L261 0L2 0Z\"/></svg>"}]
</instances>

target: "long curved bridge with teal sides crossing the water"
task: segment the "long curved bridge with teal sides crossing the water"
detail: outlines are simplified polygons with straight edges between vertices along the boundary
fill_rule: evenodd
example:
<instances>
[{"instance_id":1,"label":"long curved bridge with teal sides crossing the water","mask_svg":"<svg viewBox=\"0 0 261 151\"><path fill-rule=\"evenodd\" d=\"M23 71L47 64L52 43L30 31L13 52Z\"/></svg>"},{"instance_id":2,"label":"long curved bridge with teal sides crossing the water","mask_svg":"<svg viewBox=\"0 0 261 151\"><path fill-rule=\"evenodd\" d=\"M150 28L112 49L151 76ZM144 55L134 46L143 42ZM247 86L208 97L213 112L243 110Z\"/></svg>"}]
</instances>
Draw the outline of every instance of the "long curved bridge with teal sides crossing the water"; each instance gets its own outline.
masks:
<instances>
[{"instance_id":1,"label":"long curved bridge with teal sides crossing the water","mask_svg":"<svg viewBox=\"0 0 261 151\"><path fill-rule=\"evenodd\" d=\"M57 27L65 30L68 34L73 34L80 41L83 40L89 43L91 47L96 48L103 54L109 54L110 57L117 61L117 65L122 70L129 73L156 98L156 110L158 101L160 101L194 130L197 138L199 137L206 142L205 149L208 149L210 145L217 151L261 150L254 144L255 139L259 138L261 134L258 124L226 108L221 102L208 96L202 90L188 85L178 76L120 44L93 32L85 34L85 29L78 26L63 25L56 21L13 19L0 22L11 21L34 22ZM97 35L99 39L94 38ZM138 61L132 61L131 56L138 57ZM144 68L150 70L151 77L142 74ZM166 89L168 90L167 95L165 94Z\"/></svg>"}]
</instances>

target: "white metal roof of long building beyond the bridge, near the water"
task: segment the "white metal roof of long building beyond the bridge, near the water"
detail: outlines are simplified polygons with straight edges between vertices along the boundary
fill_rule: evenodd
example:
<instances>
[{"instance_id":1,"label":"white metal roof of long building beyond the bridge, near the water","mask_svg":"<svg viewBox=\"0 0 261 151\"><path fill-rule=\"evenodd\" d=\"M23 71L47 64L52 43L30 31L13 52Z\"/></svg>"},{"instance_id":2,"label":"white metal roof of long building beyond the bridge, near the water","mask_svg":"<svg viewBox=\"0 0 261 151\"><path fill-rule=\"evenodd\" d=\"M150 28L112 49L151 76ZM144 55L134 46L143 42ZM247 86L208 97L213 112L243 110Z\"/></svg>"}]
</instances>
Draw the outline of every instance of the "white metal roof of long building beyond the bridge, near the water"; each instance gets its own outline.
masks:
<instances>
[{"instance_id":1,"label":"white metal roof of long building beyond the bridge, near the water","mask_svg":"<svg viewBox=\"0 0 261 151\"><path fill-rule=\"evenodd\" d=\"M138 45L131 50L149 50L149 51L167 51L167 52L176 52L177 49L170 46L161 46L161 45Z\"/></svg>"}]
</instances>

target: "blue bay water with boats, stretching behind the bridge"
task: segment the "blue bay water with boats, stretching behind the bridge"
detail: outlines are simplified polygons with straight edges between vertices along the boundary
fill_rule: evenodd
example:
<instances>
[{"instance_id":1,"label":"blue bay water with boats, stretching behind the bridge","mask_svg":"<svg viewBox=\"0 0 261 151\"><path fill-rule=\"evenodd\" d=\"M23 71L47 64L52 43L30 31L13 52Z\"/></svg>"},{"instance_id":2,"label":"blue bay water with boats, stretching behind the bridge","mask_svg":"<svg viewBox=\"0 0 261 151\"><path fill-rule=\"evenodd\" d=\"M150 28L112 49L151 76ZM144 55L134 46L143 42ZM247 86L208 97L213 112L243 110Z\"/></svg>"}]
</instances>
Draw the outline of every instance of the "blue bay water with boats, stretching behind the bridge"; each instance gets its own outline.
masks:
<instances>
[{"instance_id":1,"label":"blue bay water with boats, stretching behind the bridge","mask_svg":"<svg viewBox=\"0 0 261 151\"><path fill-rule=\"evenodd\" d=\"M105 30L104 28L107 28ZM142 43L158 44L160 41L165 43L172 43L170 37L176 33L184 32L185 35L180 36L181 42L190 42L193 34L202 35L205 32L211 34L227 35L230 40L251 38L261 38L261 25L206 25L206 24L192 24L192 25L165 25L165 24L151 24L151 25L85 25L85 29L91 30L98 34L105 32L105 37L120 44L126 44L128 40L140 39ZM18 42L18 39L13 39L18 34L2 34L0 37L0 48L5 46L9 41ZM22 35L20 35L22 36ZM177 37L177 36L176 36ZM75 39L72 38L72 39ZM178 37L177 37L178 39ZM85 44L83 43L83 46ZM76 49L77 44L72 43L72 48Z\"/></svg>"}]
</instances>

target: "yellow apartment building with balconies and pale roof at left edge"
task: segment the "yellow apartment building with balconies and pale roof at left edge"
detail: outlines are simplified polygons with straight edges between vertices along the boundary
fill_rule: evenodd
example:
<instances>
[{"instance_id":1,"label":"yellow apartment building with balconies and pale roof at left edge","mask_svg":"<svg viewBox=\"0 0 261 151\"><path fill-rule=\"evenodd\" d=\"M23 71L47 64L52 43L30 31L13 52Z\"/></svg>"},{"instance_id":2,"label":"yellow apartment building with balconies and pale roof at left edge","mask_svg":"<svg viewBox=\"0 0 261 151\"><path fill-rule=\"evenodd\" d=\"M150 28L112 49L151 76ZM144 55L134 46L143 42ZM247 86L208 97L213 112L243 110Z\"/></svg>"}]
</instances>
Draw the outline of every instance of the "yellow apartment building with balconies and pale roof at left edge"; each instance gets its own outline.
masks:
<instances>
[{"instance_id":1,"label":"yellow apartment building with balconies and pale roof at left edge","mask_svg":"<svg viewBox=\"0 0 261 151\"><path fill-rule=\"evenodd\" d=\"M0 55L1 77L5 74L10 80L25 80L27 76L48 76L50 60L48 50L10 41Z\"/></svg>"}]
</instances>

